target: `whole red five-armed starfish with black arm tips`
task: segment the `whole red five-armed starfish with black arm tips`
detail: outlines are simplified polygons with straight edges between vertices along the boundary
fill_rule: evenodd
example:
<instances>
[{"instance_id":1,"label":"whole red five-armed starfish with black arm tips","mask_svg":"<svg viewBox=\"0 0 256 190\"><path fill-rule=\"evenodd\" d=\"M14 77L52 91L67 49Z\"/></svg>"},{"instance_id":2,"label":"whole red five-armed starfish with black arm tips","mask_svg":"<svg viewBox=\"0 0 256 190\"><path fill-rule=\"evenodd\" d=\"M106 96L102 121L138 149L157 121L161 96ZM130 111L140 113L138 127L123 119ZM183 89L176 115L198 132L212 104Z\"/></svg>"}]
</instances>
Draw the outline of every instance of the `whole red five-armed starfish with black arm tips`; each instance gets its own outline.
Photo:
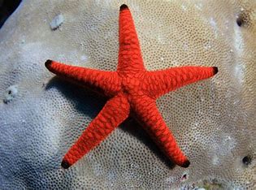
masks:
<instances>
[{"instance_id":1,"label":"whole red five-armed starfish with black arm tips","mask_svg":"<svg viewBox=\"0 0 256 190\"><path fill-rule=\"evenodd\" d=\"M58 76L89 86L110 98L75 145L68 150L61 164L63 168L72 166L89 153L128 118L130 110L168 158L179 166L189 166L188 158L176 144L155 101L181 86L214 76L217 67L172 67L161 71L146 71L132 15L126 5L120 6L119 11L117 71L73 67L50 60L46 61L46 67Z\"/></svg>"}]
</instances>

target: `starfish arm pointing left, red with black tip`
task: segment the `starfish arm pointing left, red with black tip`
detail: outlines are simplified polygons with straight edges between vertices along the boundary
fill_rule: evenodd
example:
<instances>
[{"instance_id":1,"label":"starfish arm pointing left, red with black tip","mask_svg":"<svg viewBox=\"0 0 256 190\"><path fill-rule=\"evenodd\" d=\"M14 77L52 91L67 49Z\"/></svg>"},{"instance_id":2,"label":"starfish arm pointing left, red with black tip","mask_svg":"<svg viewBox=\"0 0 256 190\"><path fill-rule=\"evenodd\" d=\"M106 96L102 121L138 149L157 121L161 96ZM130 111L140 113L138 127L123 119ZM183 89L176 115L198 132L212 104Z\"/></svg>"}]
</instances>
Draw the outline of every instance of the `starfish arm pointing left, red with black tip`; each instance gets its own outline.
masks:
<instances>
[{"instance_id":1,"label":"starfish arm pointing left, red with black tip","mask_svg":"<svg viewBox=\"0 0 256 190\"><path fill-rule=\"evenodd\" d=\"M120 81L115 71L99 71L85 67L70 66L51 60L46 61L46 68L56 74L72 80L78 84L84 84L108 97L116 95L120 90Z\"/></svg>"}]
</instances>

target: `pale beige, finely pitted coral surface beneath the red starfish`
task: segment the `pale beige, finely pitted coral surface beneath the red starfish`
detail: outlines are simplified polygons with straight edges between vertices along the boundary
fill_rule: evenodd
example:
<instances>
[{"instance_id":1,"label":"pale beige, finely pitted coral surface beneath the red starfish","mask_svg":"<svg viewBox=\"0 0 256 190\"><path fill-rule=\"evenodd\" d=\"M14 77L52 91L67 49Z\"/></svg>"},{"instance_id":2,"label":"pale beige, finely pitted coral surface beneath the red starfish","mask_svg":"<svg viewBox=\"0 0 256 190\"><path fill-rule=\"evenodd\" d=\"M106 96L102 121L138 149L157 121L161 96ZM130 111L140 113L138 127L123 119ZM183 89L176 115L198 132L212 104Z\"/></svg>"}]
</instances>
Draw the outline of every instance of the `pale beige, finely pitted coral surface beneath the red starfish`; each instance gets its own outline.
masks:
<instances>
[{"instance_id":1,"label":"pale beige, finely pitted coral surface beneath the red starfish","mask_svg":"<svg viewBox=\"0 0 256 190\"><path fill-rule=\"evenodd\" d=\"M157 102L191 165L170 166L128 119L74 166L60 167L105 100L54 77L44 63L115 71L120 3L24 0L0 30L0 98L19 86L12 101L0 101L0 188L255 188L255 1L122 1L147 70L219 68ZM56 15L65 15L61 32L49 27Z\"/></svg>"}]
</instances>

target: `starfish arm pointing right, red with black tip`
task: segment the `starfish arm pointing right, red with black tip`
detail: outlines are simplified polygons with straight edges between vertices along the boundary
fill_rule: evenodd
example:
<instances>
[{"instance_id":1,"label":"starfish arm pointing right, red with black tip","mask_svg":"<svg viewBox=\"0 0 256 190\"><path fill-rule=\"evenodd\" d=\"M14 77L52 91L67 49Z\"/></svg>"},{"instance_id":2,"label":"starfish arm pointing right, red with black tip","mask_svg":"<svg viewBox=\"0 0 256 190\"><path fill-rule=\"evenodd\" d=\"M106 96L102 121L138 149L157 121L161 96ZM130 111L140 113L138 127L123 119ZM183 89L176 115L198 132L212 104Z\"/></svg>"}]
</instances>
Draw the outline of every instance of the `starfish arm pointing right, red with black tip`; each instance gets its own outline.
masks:
<instances>
[{"instance_id":1,"label":"starfish arm pointing right, red with black tip","mask_svg":"<svg viewBox=\"0 0 256 190\"><path fill-rule=\"evenodd\" d=\"M157 98L186 84L215 76L217 67L172 67L162 71L148 71L143 84L148 96Z\"/></svg>"}]
</instances>

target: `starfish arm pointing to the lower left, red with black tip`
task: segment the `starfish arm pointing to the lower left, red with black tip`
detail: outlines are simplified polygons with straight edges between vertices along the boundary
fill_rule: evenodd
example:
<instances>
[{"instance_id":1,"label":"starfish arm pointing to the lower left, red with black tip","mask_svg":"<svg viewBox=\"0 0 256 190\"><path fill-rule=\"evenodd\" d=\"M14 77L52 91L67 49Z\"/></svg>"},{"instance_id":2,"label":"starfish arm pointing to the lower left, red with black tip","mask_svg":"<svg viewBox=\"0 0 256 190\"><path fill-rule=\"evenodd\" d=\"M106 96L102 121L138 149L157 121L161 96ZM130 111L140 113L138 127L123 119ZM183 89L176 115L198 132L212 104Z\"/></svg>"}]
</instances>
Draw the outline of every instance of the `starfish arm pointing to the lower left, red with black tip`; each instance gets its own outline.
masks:
<instances>
[{"instance_id":1,"label":"starfish arm pointing to the lower left, red with black tip","mask_svg":"<svg viewBox=\"0 0 256 190\"><path fill-rule=\"evenodd\" d=\"M106 105L85 129L75 145L72 145L72 148L68 150L61 166L67 169L97 146L124 119L128 118L129 110L128 100L121 93L107 101Z\"/></svg>"}]
</instances>

